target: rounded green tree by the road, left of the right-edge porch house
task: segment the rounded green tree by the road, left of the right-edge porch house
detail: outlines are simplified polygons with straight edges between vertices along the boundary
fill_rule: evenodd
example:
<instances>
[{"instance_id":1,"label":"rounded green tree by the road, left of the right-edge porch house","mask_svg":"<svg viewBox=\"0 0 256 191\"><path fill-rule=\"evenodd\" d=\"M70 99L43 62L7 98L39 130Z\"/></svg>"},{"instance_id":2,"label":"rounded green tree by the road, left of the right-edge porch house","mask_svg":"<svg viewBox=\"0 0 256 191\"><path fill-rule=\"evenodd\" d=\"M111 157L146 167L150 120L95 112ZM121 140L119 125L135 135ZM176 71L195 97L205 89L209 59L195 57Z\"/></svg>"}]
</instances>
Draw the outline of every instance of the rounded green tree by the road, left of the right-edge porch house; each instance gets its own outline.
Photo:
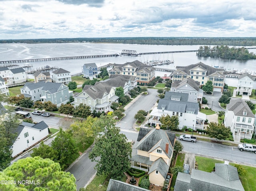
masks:
<instances>
[{"instance_id":1,"label":"rounded green tree by the road, left of the right-edge porch house","mask_svg":"<svg viewBox=\"0 0 256 191\"><path fill-rule=\"evenodd\" d=\"M230 130L223 124L210 122L209 126L207 127L207 133L210 137L216 138L216 140L225 140L229 137Z\"/></svg>"}]
</instances>

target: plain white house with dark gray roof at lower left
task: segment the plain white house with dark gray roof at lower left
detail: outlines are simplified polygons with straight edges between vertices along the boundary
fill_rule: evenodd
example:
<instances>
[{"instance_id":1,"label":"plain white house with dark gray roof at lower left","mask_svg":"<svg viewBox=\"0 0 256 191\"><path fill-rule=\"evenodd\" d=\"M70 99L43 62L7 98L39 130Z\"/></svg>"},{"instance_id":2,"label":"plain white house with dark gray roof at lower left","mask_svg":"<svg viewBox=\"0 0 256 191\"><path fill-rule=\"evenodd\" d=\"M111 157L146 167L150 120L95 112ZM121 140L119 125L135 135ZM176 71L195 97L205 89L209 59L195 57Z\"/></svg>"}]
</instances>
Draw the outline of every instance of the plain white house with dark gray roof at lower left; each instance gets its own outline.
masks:
<instances>
[{"instance_id":1,"label":"plain white house with dark gray roof at lower left","mask_svg":"<svg viewBox=\"0 0 256 191\"><path fill-rule=\"evenodd\" d=\"M37 124L22 122L17 128L17 134L18 136L11 147L12 157L18 156L47 138L49 135L48 125L44 121Z\"/></svg>"}]
</instances>

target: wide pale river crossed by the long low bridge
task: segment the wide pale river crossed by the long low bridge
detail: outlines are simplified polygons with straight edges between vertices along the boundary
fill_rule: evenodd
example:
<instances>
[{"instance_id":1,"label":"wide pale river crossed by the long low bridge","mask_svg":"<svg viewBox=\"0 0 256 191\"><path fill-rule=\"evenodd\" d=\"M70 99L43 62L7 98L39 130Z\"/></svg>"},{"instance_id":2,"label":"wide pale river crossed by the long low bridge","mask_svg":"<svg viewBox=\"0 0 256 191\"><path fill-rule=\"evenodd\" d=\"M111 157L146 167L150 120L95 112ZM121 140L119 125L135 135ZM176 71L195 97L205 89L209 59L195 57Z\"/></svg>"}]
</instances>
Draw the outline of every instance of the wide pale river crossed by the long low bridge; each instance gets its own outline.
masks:
<instances>
[{"instance_id":1,"label":"wide pale river crossed by the long low bridge","mask_svg":"<svg viewBox=\"0 0 256 191\"><path fill-rule=\"evenodd\" d=\"M197 50L200 45L138 45L138 44L117 44L117 43L0 43L0 61L22 60L22 59L38 59L51 57L69 57L69 56L85 56L85 55L105 55L119 54L122 50L135 50L137 53L144 52L163 52L163 51L186 51ZM250 49L250 52L256 53L256 49ZM241 71L248 69L252 75L256 75L256 60L228 60L216 59L210 57L197 57L196 52L186 53L169 53L169 54L152 54L141 56L118 56L118 57L102 57L89 59L70 59L57 61L39 61L31 62L33 68L49 66L57 66L70 71L71 74L80 73L85 63L96 63L98 67L108 63L123 64L134 60L146 61L154 60L171 60L174 63L169 65L160 65L174 69L176 66L186 66L202 62L210 66L224 66L227 69ZM24 63L19 63L22 67ZM156 76L170 75L168 72L156 71ZM236 86L237 79L227 78L226 83ZM255 85L255 83L254 83ZM255 85L256 86L256 85Z\"/></svg>"}]
</instances>

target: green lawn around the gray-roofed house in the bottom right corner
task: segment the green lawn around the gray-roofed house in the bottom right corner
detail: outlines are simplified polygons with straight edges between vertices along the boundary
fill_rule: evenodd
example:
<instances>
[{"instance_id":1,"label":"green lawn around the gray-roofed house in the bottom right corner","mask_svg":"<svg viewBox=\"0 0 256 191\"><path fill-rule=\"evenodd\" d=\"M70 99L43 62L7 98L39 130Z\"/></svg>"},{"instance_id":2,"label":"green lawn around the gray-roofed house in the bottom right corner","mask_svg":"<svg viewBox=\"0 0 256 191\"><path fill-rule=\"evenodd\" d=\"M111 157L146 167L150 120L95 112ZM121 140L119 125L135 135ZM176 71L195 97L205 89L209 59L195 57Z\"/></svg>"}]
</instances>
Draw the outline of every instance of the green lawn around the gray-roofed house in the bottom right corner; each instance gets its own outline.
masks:
<instances>
[{"instance_id":1,"label":"green lawn around the gray-roofed house in the bottom right corner","mask_svg":"<svg viewBox=\"0 0 256 191\"><path fill-rule=\"evenodd\" d=\"M211 172L215 163L224 163L224 161L219 161L210 158L198 157L196 156L196 162L198 163L198 170ZM230 163L234 166L234 163ZM246 175L240 175L239 178L242 182L244 190L255 191L256 190L256 168L242 165L242 167L247 171Z\"/></svg>"}]
</instances>

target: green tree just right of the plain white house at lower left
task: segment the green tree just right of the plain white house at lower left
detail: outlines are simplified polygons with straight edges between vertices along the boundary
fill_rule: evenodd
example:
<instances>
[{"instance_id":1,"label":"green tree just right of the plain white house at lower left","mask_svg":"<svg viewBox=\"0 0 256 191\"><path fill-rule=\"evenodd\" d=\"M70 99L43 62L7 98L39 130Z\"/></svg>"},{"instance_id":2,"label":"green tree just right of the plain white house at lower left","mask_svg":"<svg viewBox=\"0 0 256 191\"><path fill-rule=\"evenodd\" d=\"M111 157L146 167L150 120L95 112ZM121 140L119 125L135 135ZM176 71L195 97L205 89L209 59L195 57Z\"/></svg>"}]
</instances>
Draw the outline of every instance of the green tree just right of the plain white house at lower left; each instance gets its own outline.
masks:
<instances>
[{"instance_id":1,"label":"green tree just right of the plain white house at lower left","mask_svg":"<svg viewBox=\"0 0 256 191\"><path fill-rule=\"evenodd\" d=\"M72 132L63 131L62 128L60 128L60 132L52 141L52 148L58 152L57 160L62 170L66 169L79 156Z\"/></svg>"}]
</instances>

